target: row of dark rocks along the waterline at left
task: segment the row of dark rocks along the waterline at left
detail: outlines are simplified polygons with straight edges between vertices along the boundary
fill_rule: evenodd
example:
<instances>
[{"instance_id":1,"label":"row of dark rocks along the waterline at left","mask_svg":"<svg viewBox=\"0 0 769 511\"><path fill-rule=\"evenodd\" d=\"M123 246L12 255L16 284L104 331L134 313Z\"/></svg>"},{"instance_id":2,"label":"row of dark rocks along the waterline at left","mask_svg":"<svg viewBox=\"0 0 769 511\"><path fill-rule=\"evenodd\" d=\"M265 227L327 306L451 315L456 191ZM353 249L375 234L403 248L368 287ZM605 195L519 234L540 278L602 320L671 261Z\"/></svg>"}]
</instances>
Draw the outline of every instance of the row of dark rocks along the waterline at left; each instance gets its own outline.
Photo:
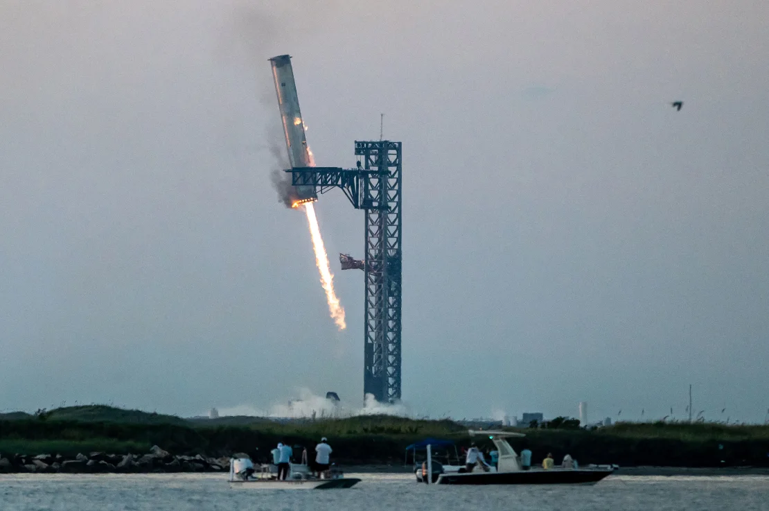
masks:
<instances>
[{"instance_id":1,"label":"row of dark rocks along the waterline at left","mask_svg":"<svg viewBox=\"0 0 769 511\"><path fill-rule=\"evenodd\" d=\"M143 455L90 453L74 458L60 454L0 455L0 473L167 473L224 472L229 469L227 457L174 456L158 446Z\"/></svg>"}]
</instances>

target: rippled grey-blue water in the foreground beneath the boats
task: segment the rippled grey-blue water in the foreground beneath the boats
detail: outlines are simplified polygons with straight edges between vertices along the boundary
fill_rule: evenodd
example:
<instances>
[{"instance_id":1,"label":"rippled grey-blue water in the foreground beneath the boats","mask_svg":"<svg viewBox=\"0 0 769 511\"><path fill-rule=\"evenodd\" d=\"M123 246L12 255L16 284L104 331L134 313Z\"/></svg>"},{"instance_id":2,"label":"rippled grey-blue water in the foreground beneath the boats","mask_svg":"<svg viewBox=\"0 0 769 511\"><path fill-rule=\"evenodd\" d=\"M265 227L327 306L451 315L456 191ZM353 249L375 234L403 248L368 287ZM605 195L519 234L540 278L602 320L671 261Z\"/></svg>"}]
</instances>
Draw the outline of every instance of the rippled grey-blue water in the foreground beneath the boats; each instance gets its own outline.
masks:
<instances>
[{"instance_id":1,"label":"rippled grey-blue water in the foreground beneath the boats","mask_svg":"<svg viewBox=\"0 0 769 511\"><path fill-rule=\"evenodd\" d=\"M355 474L350 474L355 476ZM769 477L612 476L597 486L425 486L408 475L359 475L351 489L236 490L225 476L199 474L0 476L2 511L355 509L463 511L536 509L769 510Z\"/></svg>"}]
</instances>

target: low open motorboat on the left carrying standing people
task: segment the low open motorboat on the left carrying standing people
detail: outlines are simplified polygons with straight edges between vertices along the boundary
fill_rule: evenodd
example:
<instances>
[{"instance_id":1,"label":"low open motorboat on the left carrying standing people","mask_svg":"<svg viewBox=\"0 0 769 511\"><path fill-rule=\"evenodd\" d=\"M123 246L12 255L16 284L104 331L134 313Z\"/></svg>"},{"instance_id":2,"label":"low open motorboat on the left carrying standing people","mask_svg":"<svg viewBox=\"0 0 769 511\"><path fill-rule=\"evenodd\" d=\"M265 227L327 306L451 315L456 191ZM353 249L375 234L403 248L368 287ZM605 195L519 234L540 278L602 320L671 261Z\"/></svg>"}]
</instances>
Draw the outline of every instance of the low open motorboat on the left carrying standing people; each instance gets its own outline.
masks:
<instances>
[{"instance_id":1,"label":"low open motorboat on the left carrying standing people","mask_svg":"<svg viewBox=\"0 0 769 511\"><path fill-rule=\"evenodd\" d=\"M350 488L361 479L345 477L339 470L328 470L315 478L306 464L291 463L291 469L285 480L278 480L269 465L261 465L258 470L248 458L230 459L228 482L231 488L238 489L341 489Z\"/></svg>"}]
</instances>

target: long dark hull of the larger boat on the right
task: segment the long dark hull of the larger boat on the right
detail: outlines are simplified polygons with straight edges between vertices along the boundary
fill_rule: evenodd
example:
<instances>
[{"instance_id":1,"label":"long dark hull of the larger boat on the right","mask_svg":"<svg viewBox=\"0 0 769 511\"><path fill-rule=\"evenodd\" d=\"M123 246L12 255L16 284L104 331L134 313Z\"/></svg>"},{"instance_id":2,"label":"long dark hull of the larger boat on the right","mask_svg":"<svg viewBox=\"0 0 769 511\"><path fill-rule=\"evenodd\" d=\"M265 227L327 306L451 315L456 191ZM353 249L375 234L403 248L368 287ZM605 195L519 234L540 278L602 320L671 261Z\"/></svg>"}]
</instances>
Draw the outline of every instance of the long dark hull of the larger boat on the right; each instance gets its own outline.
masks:
<instances>
[{"instance_id":1,"label":"long dark hull of the larger boat on the right","mask_svg":"<svg viewBox=\"0 0 769 511\"><path fill-rule=\"evenodd\" d=\"M438 484L595 484L613 470L521 470L520 472L480 472L441 474Z\"/></svg>"}]
</instances>

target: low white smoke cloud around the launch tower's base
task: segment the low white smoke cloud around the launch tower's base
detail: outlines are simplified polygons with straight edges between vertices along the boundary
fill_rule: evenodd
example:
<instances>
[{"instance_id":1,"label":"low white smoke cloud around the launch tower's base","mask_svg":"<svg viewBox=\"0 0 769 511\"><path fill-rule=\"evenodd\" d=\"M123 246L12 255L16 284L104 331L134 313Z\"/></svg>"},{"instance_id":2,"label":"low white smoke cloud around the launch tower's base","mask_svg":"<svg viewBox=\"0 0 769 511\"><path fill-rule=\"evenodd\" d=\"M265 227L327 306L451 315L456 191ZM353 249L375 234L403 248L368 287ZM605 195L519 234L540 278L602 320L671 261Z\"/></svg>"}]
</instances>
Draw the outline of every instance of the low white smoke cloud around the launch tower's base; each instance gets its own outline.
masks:
<instances>
[{"instance_id":1,"label":"low white smoke cloud around the launch tower's base","mask_svg":"<svg viewBox=\"0 0 769 511\"><path fill-rule=\"evenodd\" d=\"M291 399L286 403L276 403L266 411L251 405L238 405L219 409L219 416L287 417L291 419L311 417L315 417L315 419L341 419L367 415L411 416L408 406L404 403L378 402L371 394L366 394L362 408L350 406L344 401L331 401L325 396L317 396L309 389L299 389L298 395L298 399Z\"/></svg>"}]
</instances>

